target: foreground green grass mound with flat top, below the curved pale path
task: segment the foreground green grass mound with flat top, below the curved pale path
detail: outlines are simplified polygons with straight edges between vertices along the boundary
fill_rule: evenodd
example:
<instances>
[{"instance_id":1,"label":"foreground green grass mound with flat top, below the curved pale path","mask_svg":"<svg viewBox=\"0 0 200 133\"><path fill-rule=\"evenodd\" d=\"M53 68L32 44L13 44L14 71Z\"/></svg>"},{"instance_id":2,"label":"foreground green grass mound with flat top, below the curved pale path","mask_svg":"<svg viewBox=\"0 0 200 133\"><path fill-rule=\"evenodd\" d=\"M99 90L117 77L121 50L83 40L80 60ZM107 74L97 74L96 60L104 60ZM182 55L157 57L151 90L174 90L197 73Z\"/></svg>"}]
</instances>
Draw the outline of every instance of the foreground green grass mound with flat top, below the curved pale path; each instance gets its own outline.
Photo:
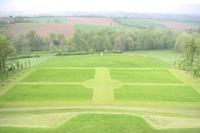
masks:
<instances>
[{"instance_id":1,"label":"foreground green grass mound with flat top, below the curved pale path","mask_svg":"<svg viewBox=\"0 0 200 133\"><path fill-rule=\"evenodd\" d=\"M199 133L200 129L152 128L143 119L131 115L82 114L58 128L0 127L2 133Z\"/></svg>"}]
</instances>

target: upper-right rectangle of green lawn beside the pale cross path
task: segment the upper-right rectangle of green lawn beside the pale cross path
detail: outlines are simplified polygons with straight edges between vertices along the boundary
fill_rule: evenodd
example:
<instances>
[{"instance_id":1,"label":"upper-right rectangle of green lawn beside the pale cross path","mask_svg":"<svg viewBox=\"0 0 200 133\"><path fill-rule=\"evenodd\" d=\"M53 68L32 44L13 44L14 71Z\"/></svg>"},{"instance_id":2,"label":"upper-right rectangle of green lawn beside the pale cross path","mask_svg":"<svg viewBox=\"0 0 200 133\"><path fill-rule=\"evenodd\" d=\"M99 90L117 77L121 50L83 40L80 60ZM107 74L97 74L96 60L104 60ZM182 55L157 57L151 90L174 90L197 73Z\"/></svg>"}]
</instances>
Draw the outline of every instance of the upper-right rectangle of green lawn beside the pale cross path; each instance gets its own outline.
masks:
<instances>
[{"instance_id":1,"label":"upper-right rectangle of green lawn beside the pale cross path","mask_svg":"<svg viewBox=\"0 0 200 133\"><path fill-rule=\"evenodd\" d=\"M167 69L111 69L111 77L123 82L139 83L181 83Z\"/></svg>"}]
</instances>

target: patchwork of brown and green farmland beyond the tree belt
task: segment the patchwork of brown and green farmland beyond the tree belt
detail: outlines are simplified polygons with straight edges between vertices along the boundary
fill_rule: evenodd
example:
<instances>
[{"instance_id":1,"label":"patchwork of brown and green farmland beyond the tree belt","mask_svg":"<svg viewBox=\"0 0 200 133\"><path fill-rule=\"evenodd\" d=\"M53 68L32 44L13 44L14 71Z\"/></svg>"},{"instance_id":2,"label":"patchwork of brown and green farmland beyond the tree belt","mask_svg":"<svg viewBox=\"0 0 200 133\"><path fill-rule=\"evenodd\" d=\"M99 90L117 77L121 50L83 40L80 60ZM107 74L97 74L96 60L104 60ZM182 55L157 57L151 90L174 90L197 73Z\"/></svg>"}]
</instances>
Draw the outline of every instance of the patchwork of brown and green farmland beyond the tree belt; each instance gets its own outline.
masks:
<instances>
[{"instance_id":1,"label":"patchwork of brown and green farmland beyond the tree belt","mask_svg":"<svg viewBox=\"0 0 200 133\"><path fill-rule=\"evenodd\" d=\"M117 31L137 31L146 28L172 29L184 31L198 27L198 24L157 19L134 19L134 18L104 18L104 17L27 17L26 23L15 23L8 28L1 29L14 37L26 34L31 30L41 37L47 37L50 33L63 34L70 38L77 30L96 31L101 29L113 29ZM114 21L115 20L115 21Z\"/></svg>"}]
</instances>

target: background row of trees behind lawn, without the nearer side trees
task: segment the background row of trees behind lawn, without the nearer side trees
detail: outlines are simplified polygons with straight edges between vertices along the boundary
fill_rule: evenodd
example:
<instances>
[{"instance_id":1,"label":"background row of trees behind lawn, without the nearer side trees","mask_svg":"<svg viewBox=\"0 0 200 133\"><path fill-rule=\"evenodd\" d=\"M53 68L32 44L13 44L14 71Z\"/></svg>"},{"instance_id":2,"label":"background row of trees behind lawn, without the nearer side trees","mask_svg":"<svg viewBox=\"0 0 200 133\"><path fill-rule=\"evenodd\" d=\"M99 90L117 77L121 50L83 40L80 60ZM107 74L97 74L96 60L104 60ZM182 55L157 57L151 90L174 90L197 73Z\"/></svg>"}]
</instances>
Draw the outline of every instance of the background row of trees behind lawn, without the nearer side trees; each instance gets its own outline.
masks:
<instances>
[{"instance_id":1,"label":"background row of trees behind lawn, without the nearer side trees","mask_svg":"<svg viewBox=\"0 0 200 133\"><path fill-rule=\"evenodd\" d=\"M131 51L148 49L170 49L175 43L176 34L172 31L158 31L154 29L140 31L115 31L104 29L100 31L78 31L71 39L62 34L52 33L41 38L36 32L30 31L26 35L14 40L17 52L30 51Z\"/></svg>"}]
</instances>

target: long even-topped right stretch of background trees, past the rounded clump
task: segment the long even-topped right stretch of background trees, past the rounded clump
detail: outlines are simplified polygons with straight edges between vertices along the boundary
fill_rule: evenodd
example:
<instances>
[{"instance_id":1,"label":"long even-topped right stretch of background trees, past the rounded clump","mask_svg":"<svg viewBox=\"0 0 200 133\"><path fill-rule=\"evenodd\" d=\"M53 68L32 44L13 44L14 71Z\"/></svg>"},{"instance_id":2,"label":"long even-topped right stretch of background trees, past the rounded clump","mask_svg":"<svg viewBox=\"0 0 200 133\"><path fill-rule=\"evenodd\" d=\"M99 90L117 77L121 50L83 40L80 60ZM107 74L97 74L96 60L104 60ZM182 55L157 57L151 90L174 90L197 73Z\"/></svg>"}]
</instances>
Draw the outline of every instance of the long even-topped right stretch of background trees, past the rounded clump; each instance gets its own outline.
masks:
<instances>
[{"instance_id":1,"label":"long even-topped right stretch of background trees, past the rounded clump","mask_svg":"<svg viewBox=\"0 0 200 133\"><path fill-rule=\"evenodd\" d=\"M68 41L69 51L131 51L149 49L170 49L174 47L176 34L172 31L154 29L136 32L102 30L76 32Z\"/></svg>"}]
</instances>

